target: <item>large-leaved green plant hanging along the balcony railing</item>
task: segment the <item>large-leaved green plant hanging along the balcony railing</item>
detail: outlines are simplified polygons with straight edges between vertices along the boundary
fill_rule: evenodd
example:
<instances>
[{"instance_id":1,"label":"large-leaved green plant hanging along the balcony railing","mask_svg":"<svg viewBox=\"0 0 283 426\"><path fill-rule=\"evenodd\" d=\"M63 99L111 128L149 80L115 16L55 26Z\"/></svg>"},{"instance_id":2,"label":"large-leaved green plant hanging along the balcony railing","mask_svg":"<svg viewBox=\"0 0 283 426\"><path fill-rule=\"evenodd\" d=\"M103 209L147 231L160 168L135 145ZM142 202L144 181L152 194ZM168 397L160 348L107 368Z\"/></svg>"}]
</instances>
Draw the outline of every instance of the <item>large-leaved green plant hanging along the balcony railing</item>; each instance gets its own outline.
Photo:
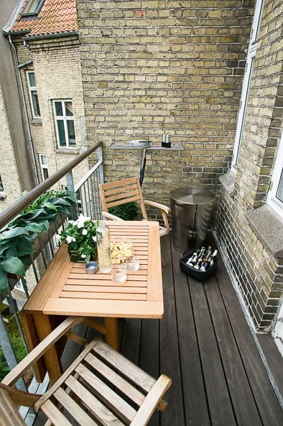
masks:
<instances>
[{"instance_id":1,"label":"large-leaved green plant hanging along the balcony railing","mask_svg":"<svg viewBox=\"0 0 283 426\"><path fill-rule=\"evenodd\" d=\"M8 289L8 273L25 275L30 266L33 243L49 223L56 222L60 214L70 214L76 196L68 191L45 192L33 204L23 210L0 233L0 293Z\"/></svg>"}]
</instances>

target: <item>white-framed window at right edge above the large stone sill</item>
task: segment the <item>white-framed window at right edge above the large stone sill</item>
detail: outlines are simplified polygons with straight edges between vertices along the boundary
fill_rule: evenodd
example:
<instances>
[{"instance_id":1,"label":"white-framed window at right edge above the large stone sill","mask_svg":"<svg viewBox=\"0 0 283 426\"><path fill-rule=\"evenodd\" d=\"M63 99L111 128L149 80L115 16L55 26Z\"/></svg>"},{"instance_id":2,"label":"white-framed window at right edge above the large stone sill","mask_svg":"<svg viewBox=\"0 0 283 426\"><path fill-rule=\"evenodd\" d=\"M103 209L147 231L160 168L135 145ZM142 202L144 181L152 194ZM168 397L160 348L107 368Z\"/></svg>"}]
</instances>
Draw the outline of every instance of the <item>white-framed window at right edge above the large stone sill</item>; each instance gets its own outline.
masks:
<instances>
[{"instance_id":1,"label":"white-framed window at right edge above the large stone sill","mask_svg":"<svg viewBox=\"0 0 283 426\"><path fill-rule=\"evenodd\" d=\"M270 190L267 196L267 204L269 204L279 216L283 217L283 131L281 133L274 164Z\"/></svg>"}]
</instances>

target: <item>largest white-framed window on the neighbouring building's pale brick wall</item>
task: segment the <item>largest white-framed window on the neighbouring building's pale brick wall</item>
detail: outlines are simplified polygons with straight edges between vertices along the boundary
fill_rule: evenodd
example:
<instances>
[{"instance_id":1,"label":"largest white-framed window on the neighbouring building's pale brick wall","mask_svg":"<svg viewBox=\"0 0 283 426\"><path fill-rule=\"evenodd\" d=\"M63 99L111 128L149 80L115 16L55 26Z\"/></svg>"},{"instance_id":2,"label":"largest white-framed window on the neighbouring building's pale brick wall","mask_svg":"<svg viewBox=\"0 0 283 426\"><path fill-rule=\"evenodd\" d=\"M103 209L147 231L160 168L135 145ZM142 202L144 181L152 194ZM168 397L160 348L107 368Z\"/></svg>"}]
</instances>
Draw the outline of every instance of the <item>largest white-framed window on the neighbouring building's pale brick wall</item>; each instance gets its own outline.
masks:
<instances>
[{"instance_id":1,"label":"largest white-framed window on the neighbouring building's pale brick wall","mask_svg":"<svg viewBox=\"0 0 283 426\"><path fill-rule=\"evenodd\" d=\"M58 146L60 148L76 148L72 100L56 100L53 103Z\"/></svg>"}]
</instances>

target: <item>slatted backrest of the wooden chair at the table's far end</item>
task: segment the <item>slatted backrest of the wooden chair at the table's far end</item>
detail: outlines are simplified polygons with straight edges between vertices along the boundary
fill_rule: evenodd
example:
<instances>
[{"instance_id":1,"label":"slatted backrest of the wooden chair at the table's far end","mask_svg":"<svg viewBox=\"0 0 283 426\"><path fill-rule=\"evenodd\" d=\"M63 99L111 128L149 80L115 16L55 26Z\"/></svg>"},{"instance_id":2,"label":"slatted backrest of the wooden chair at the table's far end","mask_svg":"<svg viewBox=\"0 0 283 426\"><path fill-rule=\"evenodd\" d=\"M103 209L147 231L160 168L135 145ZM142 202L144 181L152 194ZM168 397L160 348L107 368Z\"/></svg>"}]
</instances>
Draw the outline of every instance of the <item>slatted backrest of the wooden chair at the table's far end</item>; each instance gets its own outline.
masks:
<instances>
[{"instance_id":1,"label":"slatted backrest of the wooden chair at the table's far end","mask_svg":"<svg viewBox=\"0 0 283 426\"><path fill-rule=\"evenodd\" d=\"M137 201L137 203L140 204L143 218L148 220L138 177L130 177L128 179L99 185L99 192L104 212L108 212L109 207L126 204L129 203L129 201Z\"/></svg>"}]
</instances>

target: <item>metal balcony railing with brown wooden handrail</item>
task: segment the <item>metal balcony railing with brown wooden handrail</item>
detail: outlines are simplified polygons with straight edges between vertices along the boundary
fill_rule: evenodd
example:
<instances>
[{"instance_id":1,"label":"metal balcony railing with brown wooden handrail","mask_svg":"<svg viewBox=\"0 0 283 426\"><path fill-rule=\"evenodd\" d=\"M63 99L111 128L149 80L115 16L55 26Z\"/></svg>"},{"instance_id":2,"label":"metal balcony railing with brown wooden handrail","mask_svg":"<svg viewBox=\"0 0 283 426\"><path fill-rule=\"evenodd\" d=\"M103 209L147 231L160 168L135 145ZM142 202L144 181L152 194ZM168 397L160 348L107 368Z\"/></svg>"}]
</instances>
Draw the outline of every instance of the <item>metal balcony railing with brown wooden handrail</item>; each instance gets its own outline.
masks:
<instances>
[{"instance_id":1,"label":"metal balcony railing with brown wooden handrail","mask_svg":"<svg viewBox=\"0 0 283 426\"><path fill-rule=\"evenodd\" d=\"M87 159L92 153L97 154L96 164L85 174L80 182L74 185L73 169L83 160ZM74 209L71 217L76 219L79 214L90 216L91 219L102 218L102 208L99 197L99 184L104 182L103 176L103 156L102 143L99 142L77 156L75 160L70 161L48 179L33 188L25 196L21 197L16 203L0 213L0 230L15 219L16 216L39 198L46 190L52 188L62 177L66 177L67 189L76 193L77 209ZM64 222L68 220L66 215L59 216L54 226L50 226L47 233L41 234L34 244L35 253L31 254L31 265L27 270L26 277L19 280L9 279L8 295L5 303L8 304L13 317L15 318L22 342L27 349L25 335L22 331L20 316L18 313L28 300L32 289L45 272L49 263L54 257L58 246L58 234L60 229L64 229ZM19 300L21 299L21 300ZM0 302L3 301L0 299ZM5 320L0 313L0 345L6 358L9 369L11 370L18 363L14 348L11 343L11 336L6 327ZM31 383L30 383L31 382ZM29 390L32 393L44 393L49 386L49 377L46 375L43 383L37 383L35 378L29 380L29 386L24 379L18 380L16 386L21 390ZM29 407L20 407L19 412L28 425L32 425L35 420L35 413Z\"/></svg>"}]
</instances>

